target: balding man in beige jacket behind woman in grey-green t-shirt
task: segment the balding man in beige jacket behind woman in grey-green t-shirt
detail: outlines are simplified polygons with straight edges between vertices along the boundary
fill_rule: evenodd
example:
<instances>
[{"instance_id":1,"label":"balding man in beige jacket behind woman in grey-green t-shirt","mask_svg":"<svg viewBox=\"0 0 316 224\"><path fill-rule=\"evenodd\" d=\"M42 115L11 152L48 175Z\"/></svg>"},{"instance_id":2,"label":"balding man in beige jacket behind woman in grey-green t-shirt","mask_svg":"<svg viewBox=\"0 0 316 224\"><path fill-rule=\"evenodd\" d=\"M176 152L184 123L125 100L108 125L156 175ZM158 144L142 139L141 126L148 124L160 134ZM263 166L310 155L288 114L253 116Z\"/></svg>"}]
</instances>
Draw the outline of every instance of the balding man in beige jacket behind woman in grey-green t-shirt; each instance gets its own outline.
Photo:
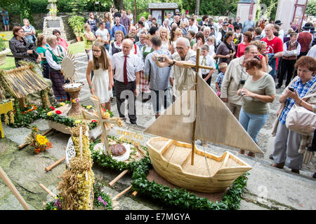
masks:
<instances>
[{"instance_id":1,"label":"balding man in beige jacket behind woman in grey-green t-shirt","mask_svg":"<svg viewBox=\"0 0 316 224\"><path fill-rule=\"evenodd\" d=\"M244 60L253 58L256 55L258 55L256 45L246 46L242 57L237 57L230 61L220 87L220 99L228 106L228 109L230 109L237 120L239 119L240 109L242 109L242 96L237 95L237 90L242 89L249 76L242 63Z\"/></svg>"}]
</instances>

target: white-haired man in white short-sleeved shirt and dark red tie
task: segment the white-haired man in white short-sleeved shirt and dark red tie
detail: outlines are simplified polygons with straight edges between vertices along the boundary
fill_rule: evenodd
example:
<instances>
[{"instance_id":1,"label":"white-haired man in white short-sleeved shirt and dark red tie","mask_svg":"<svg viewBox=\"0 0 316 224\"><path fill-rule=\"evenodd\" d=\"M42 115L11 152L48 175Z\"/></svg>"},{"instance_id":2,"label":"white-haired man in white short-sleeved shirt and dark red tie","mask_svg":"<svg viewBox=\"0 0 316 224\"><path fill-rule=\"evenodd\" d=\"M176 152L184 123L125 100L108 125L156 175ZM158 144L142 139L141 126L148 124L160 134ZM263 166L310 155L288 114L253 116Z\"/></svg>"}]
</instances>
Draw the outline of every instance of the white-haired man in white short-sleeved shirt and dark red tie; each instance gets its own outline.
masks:
<instances>
[{"instance_id":1,"label":"white-haired man in white short-sleeved shirt and dark red tie","mask_svg":"<svg viewBox=\"0 0 316 224\"><path fill-rule=\"evenodd\" d=\"M131 53L133 41L124 39L122 42L123 50L114 54L112 57L112 69L114 73L114 87L117 98L117 110L119 117L125 119L124 102L127 97L129 108L129 121L136 125L136 97L139 95L140 71L142 63L140 58ZM128 90L128 91L125 91Z\"/></svg>"}]
</instances>

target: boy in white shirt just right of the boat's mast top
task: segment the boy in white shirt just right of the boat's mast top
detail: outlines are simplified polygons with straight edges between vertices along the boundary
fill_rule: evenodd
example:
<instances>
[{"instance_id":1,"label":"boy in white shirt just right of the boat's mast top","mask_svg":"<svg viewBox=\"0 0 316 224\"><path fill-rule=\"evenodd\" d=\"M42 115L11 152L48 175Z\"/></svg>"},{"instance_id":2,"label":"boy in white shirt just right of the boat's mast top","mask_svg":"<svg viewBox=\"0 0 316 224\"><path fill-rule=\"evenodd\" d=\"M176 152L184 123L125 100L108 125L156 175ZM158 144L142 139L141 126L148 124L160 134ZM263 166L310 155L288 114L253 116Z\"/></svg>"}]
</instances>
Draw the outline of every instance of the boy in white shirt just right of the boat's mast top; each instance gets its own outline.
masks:
<instances>
[{"instance_id":1,"label":"boy in white shirt just right of the boat's mast top","mask_svg":"<svg viewBox=\"0 0 316 224\"><path fill-rule=\"evenodd\" d=\"M204 81L206 81L207 84L209 84L211 86L211 79L212 79L212 74L215 71L215 64L214 64L214 60L213 57L209 56L209 46L208 45L203 45L201 48L201 59L199 64L200 65L205 65L205 66L211 66L213 67L212 70L210 69L201 69L202 71L202 78L204 79Z\"/></svg>"}]
</instances>

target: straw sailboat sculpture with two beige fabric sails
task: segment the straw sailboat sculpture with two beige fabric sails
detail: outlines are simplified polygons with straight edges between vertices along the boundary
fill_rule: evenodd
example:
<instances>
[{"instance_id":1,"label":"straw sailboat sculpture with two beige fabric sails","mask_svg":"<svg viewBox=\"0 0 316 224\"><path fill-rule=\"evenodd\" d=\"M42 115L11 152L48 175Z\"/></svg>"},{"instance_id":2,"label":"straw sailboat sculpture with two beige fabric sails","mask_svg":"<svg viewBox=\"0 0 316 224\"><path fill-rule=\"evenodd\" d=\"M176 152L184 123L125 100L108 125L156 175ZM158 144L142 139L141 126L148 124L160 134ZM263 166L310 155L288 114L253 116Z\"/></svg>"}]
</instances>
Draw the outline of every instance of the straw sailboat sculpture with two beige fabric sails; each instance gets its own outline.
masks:
<instances>
[{"instance_id":1,"label":"straw sailboat sculpture with two beige fabric sails","mask_svg":"<svg viewBox=\"0 0 316 224\"><path fill-rule=\"evenodd\" d=\"M155 171L176 186L203 193L223 192L252 167L228 151L217 157L196 146L192 165L194 129L190 116L196 120L195 139L254 153L263 154L263 151L202 78L197 77L196 98L194 87L190 90L183 93L145 130L159 136L147 141L150 160ZM183 105L186 105L185 109Z\"/></svg>"}]
</instances>

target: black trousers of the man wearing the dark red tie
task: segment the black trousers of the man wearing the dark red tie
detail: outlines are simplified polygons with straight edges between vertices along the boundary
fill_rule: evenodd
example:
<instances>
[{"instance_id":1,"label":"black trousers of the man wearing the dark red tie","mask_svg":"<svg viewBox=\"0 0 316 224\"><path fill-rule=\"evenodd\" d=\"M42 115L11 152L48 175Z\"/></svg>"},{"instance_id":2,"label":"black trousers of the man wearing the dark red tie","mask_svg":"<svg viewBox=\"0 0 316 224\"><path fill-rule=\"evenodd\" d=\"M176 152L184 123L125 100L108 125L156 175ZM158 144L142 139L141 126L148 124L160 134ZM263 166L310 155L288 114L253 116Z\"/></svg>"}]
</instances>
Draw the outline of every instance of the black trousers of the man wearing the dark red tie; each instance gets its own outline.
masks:
<instances>
[{"instance_id":1,"label":"black trousers of the man wearing the dark red tie","mask_svg":"<svg viewBox=\"0 0 316 224\"><path fill-rule=\"evenodd\" d=\"M136 81L125 83L114 80L115 97L117 98L117 111L119 111L119 117L125 118L125 106L124 102L127 99L127 108L129 110L129 120L131 123L136 123Z\"/></svg>"}]
</instances>

